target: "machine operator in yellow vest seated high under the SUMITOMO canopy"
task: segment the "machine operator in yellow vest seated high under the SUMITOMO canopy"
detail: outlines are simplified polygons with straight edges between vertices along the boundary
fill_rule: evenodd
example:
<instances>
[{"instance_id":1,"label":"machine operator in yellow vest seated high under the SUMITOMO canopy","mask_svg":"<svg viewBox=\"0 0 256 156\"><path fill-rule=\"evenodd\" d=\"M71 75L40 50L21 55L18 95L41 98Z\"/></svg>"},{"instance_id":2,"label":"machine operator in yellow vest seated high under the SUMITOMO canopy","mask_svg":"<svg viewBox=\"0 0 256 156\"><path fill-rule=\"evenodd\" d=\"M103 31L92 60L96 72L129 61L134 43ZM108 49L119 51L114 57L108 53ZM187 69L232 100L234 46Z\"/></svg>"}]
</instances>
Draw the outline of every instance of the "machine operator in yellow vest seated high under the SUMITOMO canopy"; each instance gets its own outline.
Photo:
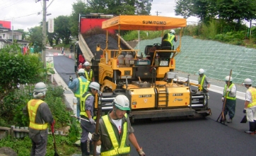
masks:
<instances>
[{"instance_id":1,"label":"machine operator in yellow vest seated high under the SUMITOMO canopy","mask_svg":"<svg viewBox=\"0 0 256 156\"><path fill-rule=\"evenodd\" d=\"M171 47L171 49L174 49L173 41L178 41L178 36L175 35L175 30L170 30L169 33L165 34L162 39L162 47Z\"/></svg>"}]
</instances>

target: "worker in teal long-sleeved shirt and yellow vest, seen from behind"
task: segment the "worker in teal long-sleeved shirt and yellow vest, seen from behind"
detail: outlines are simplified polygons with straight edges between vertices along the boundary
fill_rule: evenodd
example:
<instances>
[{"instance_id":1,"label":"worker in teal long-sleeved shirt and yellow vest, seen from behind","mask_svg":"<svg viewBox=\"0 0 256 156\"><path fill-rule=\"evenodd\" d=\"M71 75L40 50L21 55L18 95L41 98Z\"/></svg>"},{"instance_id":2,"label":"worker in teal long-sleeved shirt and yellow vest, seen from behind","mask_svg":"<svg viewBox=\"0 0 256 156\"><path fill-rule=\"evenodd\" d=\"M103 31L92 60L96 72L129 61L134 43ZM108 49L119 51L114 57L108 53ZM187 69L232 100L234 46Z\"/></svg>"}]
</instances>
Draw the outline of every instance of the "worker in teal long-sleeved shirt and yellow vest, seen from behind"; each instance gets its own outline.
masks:
<instances>
[{"instance_id":1,"label":"worker in teal long-sleeved shirt and yellow vest, seen from behind","mask_svg":"<svg viewBox=\"0 0 256 156\"><path fill-rule=\"evenodd\" d=\"M80 97L82 97L84 92L87 92L90 81L84 78L84 69L81 68L78 70L78 78L73 78L69 76L69 88L75 90L74 94L77 97L76 104L76 116L80 116Z\"/></svg>"}]
</instances>

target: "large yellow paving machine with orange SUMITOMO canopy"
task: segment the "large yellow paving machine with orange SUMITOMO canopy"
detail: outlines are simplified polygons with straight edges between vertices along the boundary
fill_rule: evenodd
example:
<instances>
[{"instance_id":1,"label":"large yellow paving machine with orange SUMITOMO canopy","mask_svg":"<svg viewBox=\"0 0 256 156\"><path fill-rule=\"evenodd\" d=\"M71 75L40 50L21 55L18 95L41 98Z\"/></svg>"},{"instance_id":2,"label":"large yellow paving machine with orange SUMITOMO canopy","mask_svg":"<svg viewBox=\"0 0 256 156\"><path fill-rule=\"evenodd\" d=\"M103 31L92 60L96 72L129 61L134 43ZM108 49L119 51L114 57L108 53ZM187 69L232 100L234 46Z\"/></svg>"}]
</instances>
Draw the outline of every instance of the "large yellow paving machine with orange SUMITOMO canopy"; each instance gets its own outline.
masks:
<instances>
[{"instance_id":1,"label":"large yellow paving machine with orange SUMITOMO canopy","mask_svg":"<svg viewBox=\"0 0 256 156\"><path fill-rule=\"evenodd\" d=\"M207 95L192 90L189 80L181 83L175 71L175 56L180 53L182 30L186 25L185 18L163 16L116 16L103 21L103 30L118 30L119 33L118 49L109 49L107 38L104 49L97 45L97 51L103 51L98 63L103 111L112 108L115 96L123 94L130 100L132 120L211 114ZM163 31L170 29L180 30L176 49L156 43L147 45L142 56L139 50L120 46L120 30L160 30L163 36ZM97 102L95 107L98 107Z\"/></svg>"}]
</instances>

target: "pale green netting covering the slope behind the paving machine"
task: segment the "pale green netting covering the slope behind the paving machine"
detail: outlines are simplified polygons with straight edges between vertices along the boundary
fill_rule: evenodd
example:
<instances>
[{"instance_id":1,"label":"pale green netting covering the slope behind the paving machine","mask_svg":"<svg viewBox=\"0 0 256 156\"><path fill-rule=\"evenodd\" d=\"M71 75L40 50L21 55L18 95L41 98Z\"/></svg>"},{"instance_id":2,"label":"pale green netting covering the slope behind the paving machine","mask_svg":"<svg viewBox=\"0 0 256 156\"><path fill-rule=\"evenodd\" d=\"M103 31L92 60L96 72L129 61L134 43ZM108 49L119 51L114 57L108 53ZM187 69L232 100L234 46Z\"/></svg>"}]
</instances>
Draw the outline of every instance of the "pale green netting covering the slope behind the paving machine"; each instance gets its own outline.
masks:
<instances>
[{"instance_id":1,"label":"pale green netting covering the slope behind the paving machine","mask_svg":"<svg viewBox=\"0 0 256 156\"><path fill-rule=\"evenodd\" d=\"M161 37L142 40L134 49L139 49L139 55L144 54L146 45L154 43L161 43ZM209 78L224 80L232 69L233 83L243 83L245 78L251 78L256 85L256 49L183 36L181 52L175 59L176 71L195 74L199 68L204 68Z\"/></svg>"}]
</instances>

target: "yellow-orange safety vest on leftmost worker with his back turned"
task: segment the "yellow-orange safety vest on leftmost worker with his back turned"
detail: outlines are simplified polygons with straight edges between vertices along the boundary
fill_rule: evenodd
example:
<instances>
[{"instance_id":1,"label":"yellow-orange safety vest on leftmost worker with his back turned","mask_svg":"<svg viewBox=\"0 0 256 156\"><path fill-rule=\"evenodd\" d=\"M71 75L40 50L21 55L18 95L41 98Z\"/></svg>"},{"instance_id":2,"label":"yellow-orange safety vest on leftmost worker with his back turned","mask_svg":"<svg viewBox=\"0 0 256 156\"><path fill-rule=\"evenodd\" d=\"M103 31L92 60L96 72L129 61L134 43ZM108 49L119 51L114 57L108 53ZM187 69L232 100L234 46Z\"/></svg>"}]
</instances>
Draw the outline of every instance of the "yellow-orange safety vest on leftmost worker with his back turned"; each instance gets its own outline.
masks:
<instances>
[{"instance_id":1,"label":"yellow-orange safety vest on leftmost worker with his back turned","mask_svg":"<svg viewBox=\"0 0 256 156\"><path fill-rule=\"evenodd\" d=\"M29 116L29 127L37 130L47 129L47 123L45 124L35 124L35 116L37 115L37 108L42 104L42 100L30 100L28 102L28 116Z\"/></svg>"}]
</instances>

